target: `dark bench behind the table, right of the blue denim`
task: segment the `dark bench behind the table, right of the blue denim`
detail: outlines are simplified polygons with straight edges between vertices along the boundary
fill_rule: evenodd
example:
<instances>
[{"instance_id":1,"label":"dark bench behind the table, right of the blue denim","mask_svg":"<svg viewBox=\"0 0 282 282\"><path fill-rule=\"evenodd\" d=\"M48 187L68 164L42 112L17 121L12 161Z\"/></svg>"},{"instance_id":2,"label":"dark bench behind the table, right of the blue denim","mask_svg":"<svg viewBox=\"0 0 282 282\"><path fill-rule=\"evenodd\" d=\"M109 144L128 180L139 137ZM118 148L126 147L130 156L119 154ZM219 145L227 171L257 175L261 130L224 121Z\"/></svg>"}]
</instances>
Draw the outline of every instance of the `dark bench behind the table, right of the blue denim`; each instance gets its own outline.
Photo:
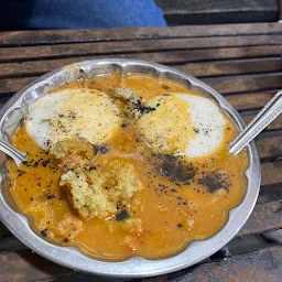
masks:
<instances>
[{"instance_id":1,"label":"dark bench behind the table, right of the blue denim","mask_svg":"<svg viewBox=\"0 0 282 282\"><path fill-rule=\"evenodd\" d=\"M170 25L274 22L279 18L275 0L156 0Z\"/></svg>"}]
</instances>

